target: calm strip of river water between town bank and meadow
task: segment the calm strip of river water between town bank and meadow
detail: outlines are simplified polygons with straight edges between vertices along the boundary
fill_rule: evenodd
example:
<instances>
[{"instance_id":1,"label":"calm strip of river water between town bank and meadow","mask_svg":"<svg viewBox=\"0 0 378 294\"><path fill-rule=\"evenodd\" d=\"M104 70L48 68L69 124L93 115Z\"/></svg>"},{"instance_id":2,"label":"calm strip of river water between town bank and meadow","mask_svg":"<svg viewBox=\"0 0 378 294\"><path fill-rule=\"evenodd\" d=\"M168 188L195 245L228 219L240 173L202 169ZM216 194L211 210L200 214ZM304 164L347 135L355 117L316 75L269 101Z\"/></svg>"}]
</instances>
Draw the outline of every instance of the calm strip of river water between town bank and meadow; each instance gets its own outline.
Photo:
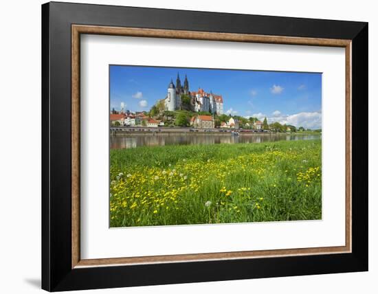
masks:
<instances>
[{"instance_id":1,"label":"calm strip of river water between town bank and meadow","mask_svg":"<svg viewBox=\"0 0 378 294\"><path fill-rule=\"evenodd\" d=\"M196 144L236 144L263 143L275 141L296 141L320 139L320 135L117 135L110 137L111 149L136 148L138 146L196 145Z\"/></svg>"}]
</instances>

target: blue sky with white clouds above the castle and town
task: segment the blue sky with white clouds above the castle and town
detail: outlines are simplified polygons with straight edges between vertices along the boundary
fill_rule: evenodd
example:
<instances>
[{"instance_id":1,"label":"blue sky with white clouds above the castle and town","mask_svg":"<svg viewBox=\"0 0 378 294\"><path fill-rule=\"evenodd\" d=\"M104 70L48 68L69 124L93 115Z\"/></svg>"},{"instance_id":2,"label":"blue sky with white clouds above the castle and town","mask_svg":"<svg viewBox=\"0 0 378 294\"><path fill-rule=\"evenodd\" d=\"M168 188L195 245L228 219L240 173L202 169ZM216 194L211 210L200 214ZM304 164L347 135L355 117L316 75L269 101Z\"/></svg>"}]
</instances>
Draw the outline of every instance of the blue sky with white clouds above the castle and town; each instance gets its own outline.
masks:
<instances>
[{"instance_id":1,"label":"blue sky with white clouds above the castle and town","mask_svg":"<svg viewBox=\"0 0 378 294\"><path fill-rule=\"evenodd\" d=\"M267 117L306 128L321 128L322 74L229 69L110 66L110 107L126 104L130 111L148 111L166 96L177 72L190 91L199 87L223 96L225 113Z\"/></svg>"}]
</instances>

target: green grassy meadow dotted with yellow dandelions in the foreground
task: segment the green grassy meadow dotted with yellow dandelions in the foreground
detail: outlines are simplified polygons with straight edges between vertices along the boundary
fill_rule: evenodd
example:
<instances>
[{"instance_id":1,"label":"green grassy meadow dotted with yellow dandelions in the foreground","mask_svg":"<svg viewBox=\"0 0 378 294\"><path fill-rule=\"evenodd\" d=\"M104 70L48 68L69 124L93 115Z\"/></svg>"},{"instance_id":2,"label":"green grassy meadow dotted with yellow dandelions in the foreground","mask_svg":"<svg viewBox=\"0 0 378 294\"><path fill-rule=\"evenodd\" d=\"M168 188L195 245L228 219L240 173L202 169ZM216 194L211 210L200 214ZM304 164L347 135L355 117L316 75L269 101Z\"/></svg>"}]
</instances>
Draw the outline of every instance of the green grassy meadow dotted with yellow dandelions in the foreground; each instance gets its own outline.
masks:
<instances>
[{"instance_id":1,"label":"green grassy meadow dotted with yellow dandelions in the foreground","mask_svg":"<svg viewBox=\"0 0 378 294\"><path fill-rule=\"evenodd\" d=\"M111 227L322 218L322 142L111 150Z\"/></svg>"}]
</instances>

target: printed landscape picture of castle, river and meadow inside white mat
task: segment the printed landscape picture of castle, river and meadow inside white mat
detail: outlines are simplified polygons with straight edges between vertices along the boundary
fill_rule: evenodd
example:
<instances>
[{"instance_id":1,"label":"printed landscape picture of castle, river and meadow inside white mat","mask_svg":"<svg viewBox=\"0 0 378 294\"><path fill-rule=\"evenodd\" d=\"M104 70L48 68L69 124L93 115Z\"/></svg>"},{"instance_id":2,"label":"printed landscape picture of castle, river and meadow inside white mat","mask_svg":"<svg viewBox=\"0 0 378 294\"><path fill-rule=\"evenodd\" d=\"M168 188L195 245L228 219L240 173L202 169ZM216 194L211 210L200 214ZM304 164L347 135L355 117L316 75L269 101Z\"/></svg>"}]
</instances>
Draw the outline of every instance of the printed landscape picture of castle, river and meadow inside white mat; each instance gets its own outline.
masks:
<instances>
[{"instance_id":1,"label":"printed landscape picture of castle, river and meadow inside white mat","mask_svg":"<svg viewBox=\"0 0 378 294\"><path fill-rule=\"evenodd\" d=\"M110 227L322 219L321 73L109 65L109 128Z\"/></svg>"}]
</instances>

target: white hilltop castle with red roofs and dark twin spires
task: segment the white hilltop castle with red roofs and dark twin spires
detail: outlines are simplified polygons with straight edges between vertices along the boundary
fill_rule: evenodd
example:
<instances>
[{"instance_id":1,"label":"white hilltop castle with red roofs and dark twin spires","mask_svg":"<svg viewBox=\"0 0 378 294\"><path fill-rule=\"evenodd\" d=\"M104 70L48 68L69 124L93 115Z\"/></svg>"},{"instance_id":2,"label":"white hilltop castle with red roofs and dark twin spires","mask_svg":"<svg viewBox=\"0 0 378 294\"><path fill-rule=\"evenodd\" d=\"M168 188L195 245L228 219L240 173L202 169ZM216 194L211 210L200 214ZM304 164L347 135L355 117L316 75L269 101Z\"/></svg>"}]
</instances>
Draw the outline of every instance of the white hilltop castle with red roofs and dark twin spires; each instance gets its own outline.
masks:
<instances>
[{"instance_id":1,"label":"white hilltop castle with red roofs and dark twin spires","mask_svg":"<svg viewBox=\"0 0 378 294\"><path fill-rule=\"evenodd\" d=\"M181 80L177 73L176 86L173 80L168 84L166 98L164 99L164 109L166 111L175 111L182 108L182 96L188 95L190 98L191 111L208 111L217 115L223 114L223 98L221 95L215 95L210 91L206 93L199 88L198 91L189 91L188 78L185 75L184 86L181 86Z\"/></svg>"}]
</instances>

